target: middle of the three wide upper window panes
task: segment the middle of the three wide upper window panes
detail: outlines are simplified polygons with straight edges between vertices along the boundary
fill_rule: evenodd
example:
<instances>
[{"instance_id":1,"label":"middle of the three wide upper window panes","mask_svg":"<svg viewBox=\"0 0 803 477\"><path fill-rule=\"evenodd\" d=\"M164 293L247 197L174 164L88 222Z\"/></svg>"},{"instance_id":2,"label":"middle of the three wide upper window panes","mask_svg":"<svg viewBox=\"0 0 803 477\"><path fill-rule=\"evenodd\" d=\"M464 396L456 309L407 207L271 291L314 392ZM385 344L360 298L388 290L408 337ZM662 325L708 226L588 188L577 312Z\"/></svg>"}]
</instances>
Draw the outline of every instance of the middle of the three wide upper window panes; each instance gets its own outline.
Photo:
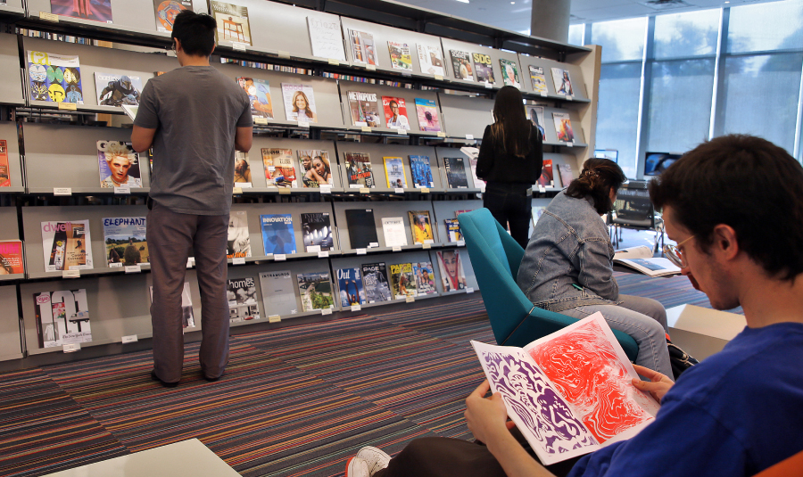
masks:
<instances>
[{"instance_id":1,"label":"middle of the three wide upper window panes","mask_svg":"<svg viewBox=\"0 0 803 477\"><path fill-rule=\"evenodd\" d=\"M716 54L720 10L655 17L655 58Z\"/></svg>"}]
</instances>

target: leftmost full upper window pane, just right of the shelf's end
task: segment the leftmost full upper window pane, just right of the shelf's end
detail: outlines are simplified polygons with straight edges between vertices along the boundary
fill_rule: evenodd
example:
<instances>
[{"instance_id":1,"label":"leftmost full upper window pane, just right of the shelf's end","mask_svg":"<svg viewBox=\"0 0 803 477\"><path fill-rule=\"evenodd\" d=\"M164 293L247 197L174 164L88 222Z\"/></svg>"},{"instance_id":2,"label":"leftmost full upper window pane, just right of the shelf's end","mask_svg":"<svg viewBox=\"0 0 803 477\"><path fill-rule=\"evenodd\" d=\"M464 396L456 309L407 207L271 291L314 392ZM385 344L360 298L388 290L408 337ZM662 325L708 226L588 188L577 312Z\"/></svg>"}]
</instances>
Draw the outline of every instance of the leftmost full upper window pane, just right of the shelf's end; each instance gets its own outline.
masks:
<instances>
[{"instance_id":1,"label":"leftmost full upper window pane, just right of the shelf's end","mask_svg":"<svg viewBox=\"0 0 803 477\"><path fill-rule=\"evenodd\" d=\"M602 46L602 62L641 60L647 17L627 20L598 21L592 24L590 45Z\"/></svg>"}]
</instances>

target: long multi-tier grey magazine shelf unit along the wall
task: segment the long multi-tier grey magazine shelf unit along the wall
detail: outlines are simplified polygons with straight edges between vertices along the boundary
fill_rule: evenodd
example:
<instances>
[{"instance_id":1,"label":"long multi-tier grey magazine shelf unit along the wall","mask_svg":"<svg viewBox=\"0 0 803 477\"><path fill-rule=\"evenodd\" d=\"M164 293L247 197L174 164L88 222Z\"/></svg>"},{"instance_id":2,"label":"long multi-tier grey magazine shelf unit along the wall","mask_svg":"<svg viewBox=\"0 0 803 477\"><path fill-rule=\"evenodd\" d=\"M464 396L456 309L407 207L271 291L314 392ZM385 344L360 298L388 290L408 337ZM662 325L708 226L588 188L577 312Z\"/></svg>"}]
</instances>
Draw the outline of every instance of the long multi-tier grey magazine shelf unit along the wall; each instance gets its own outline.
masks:
<instances>
[{"instance_id":1,"label":"long multi-tier grey magazine shelf unit along the wall","mask_svg":"<svg viewBox=\"0 0 803 477\"><path fill-rule=\"evenodd\" d=\"M272 118L255 118L253 147L247 155L252 182L250 186L236 184L233 193L232 211L246 214L251 256L228 260L229 279L253 279L254 284L259 283L255 296L260 319L232 322L233 326L327 314L328 310L302 309L297 276L303 274L328 274L329 292L334 300L333 307L328 309L334 311L356 311L405 300L393 298L366 302L360 307L343 306L341 295L348 291L340 289L337 272L341 268L385 263L390 278L392 265L429 262L434 289L414 300L476 290L476 277L465 244L450 241L444 220L455 218L459 210L482 206L478 197L484 186L475 181L469 158L459 147L478 147L485 125L493 122L493 95L503 85L505 73L500 60L509 62L517 70L527 108L536 105L543 108L544 158L551 159L553 167L568 164L576 173L589 155L587 144L594 143L595 85L600 70L597 47L563 45L378 0L336 3L230 0L230 3L247 8L249 28L237 29L243 41L220 39L212 64L233 81L253 78L263 85L267 83L272 106ZM193 7L196 12L210 12L207 0L193 0ZM125 74L139 78L144 86L157 71L177 68L177 60L168 52L170 33L157 29L153 0L112 0L113 20L109 22L59 13L52 10L50 0L24 3L23 0L8 0L0 5L4 31L12 32L14 27L22 29L17 35L0 33L0 70L3 71L0 73L0 109L3 119L12 119L0 121L0 139L8 143L11 179L11 186L0 189L0 195L3 203L15 204L15 207L0 207L0 220L8 225L0 230L0 240L23 240L26 265L26 274L0 276L0 306L20 310L18 320L0 320L3 349L0 361L62 350L62 347L40 347L33 300L34 294L40 292L87 291L92 341L83 343L85 348L120 343L123 337L131 335L139 339L151 336L149 267L143 265L139 272L128 270L128 273L123 267L109 267L109 252L103 236L103 218L146 216L144 201L149 192L150 168L147 156L141 154L142 187L132 188L128 194L115 194L113 189L100 186L96 143L127 141L131 120L121 108L98 103L96 89L103 85L95 81L95 74ZM310 25L317 34L316 41L310 37ZM28 29L45 32L45 35L34 37L37 33ZM358 35L359 53L352 45L352 31L367 35ZM70 43L71 36L91 40ZM393 45L389 45L390 42ZM418 54L419 45L423 56ZM406 57L408 49L409 59ZM486 85L456 76L451 50L468 53L475 79L473 54L488 55L494 83ZM29 62L29 51L79 57L83 103L75 104L74 111L62 111L69 109L63 107L65 104L34 99L31 72L24 67ZM373 55L370 62L365 61L368 52ZM252 65L255 67L242 65L249 62L256 63ZM534 90L530 66L543 70L546 92ZM572 95L559 93L551 76L552 68L567 70ZM283 85L312 88L315 120L288 119ZM378 116L378 126L355 124L349 92L376 95L378 111L374 112ZM387 127L383 96L404 100L409 130ZM433 104L437 117L433 122L439 125L440 131L420 130L416 99ZM567 114L571 119L575 133L571 144L558 140L552 124L555 113ZM103 116L95 118L95 114ZM269 183L266 172L272 171L265 165L262 151L271 149L292 150L295 187L280 188ZM304 186L300 150L328 153L330 187ZM349 153L368 154L374 187L355 188L349 184L346 164ZM432 172L429 187L413 184L410 156L429 158ZM388 185L385 157L402 159L405 186ZM463 159L468 187L450 187L446 160L452 158ZM534 185L534 196L549 196L560 187L557 180L542 189ZM69 188L72 196L54 196L55 189L62 188ZM546 199L535 198L534 203L536 201L542 203ZM346 211L360 209L373 211L376 247L364 250L352 247ZM408 212L418 210L429 214L433 243L413 241ZM333 246L326 252L314 248L307 251L301 216L326 213ZM266 248L260 216L271 214L292 216L294 253L278 254L276 249L269 250L270 245ZM382 218L402 218L407 245L386 246ZM61 271L44 271L42 222L57 220L88 221L92 266L81 269L79 278L66 279ZM449 285L449 280L442 276L439 253L456 260L455 256L459 255L465 275L465 283L459 288ZM280 272L289 274L295 308L273 316L271 296L263 295L260 275ZM200 330L201 324L201 300L195 273L188 264L186 282L189 283L195 327L186 328L186 333ZM289 296L286 299L289 300Z\"/></svg>"}]
</instances>

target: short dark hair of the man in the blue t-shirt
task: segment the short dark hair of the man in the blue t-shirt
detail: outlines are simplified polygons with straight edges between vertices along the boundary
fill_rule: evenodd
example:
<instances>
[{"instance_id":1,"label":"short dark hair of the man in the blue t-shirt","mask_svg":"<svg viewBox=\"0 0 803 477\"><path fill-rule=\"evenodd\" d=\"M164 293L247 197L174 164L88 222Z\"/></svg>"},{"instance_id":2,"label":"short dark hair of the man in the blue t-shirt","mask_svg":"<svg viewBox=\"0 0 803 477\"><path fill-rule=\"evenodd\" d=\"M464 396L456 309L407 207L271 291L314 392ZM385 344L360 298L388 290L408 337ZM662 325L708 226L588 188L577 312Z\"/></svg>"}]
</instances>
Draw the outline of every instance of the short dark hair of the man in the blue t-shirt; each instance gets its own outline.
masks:
<instances>
[{"instance_id":1,"label":"short dark hair of the man in the blue t-shirt","mask_svg":"<svg viewBox=\"0 0 803 477\"><path fill-rule=\"evenodd\" d=\"M650 184L656 209L667 205L708 253L714 227L733 227L741 250L767 274L803 273L803 167L766 139L719 136L683 154Z\"/></svg>"}]
</instances>

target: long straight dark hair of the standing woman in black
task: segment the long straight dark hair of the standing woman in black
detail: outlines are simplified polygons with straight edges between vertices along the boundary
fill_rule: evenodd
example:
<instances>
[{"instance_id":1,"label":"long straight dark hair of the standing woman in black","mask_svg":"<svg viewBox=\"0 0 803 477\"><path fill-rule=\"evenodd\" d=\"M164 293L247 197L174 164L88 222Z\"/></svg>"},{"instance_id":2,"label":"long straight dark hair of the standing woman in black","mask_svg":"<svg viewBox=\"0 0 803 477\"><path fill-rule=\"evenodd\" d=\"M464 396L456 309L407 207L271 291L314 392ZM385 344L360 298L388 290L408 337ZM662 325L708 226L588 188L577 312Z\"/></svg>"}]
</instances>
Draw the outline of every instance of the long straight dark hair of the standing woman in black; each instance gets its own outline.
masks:
<instances>
[{"instance_id":1,"label":"long straight dark hair of the standing woman in black","mask_svg":"<svg viewBox=\"0 0 803 477\"><path fill-rule=\"evenodd\" d=\"M493 103L491 133L496 144L501 144L504 152L517 157L525 157L530 152L532 123L527 119L524 99L521 92L513 86L504 86Z\"/></svg>"}]
</instances>

